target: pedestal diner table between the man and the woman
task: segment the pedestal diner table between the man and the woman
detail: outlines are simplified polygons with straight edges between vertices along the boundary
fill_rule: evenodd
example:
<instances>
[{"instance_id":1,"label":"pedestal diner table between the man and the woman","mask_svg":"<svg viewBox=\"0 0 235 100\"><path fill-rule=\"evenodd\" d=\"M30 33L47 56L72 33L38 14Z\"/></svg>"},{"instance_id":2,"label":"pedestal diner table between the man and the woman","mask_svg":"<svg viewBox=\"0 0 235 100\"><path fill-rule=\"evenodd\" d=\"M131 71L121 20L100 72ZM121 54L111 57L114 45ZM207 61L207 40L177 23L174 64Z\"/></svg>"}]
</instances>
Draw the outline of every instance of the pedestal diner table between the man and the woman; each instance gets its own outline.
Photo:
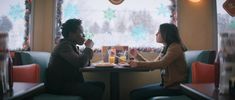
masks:
<instances>
[{"instance_id":1,"label":"pedestal diner table between the man and the woman","mask_svg":"<svg viewBox=\"0 0 235 100\"><path fill-rule=\"evenodd\" d=\"M95 67L93 65L80 68L81 72L110 72L110 100L119 100L119 73L152 71L148 68L130 68L128 66L114 65L111 67Z\"/></svg>"}]
</instances>

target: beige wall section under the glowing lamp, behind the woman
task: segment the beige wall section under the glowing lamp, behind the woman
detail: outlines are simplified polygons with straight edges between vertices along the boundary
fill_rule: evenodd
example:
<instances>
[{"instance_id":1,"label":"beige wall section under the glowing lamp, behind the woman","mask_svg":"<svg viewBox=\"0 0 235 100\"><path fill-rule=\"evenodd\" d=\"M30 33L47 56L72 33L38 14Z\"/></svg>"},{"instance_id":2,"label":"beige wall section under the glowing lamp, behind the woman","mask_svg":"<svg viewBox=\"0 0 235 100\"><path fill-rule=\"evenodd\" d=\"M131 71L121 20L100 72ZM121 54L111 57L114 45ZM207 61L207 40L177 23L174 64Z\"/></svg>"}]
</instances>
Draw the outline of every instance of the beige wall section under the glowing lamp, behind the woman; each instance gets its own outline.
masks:
<instances>
[{"instance_id":1,"label":"beige wall section under the glowing lamp, behind the woman","mask_svg":"<svg viewBox=\"0 0 235 100\"><path fill-rule=\"evenodd\" d=\"M178 25L189 49L215 49L215 0L178 0Z\"/></svg>"}]
</instances>

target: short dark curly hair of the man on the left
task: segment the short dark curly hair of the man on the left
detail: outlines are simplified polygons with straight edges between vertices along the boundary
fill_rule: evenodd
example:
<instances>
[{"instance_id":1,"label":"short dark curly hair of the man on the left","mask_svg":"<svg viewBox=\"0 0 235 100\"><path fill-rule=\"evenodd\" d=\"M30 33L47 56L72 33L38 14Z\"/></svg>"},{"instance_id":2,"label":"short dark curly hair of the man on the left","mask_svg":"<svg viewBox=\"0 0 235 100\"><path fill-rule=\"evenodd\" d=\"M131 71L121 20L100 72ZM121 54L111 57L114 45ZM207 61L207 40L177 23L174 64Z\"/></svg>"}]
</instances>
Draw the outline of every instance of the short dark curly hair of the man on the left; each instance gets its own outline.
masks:
<instances>
[{"instance_id":1,"label":"short dark curly hair of the man on the left","mask_svg":"<svg viewBox=\"0 0 235 100\"><path fill-rule=\"evenodd\" d=\"M79 33L82 32L82 29L80 29L82 21L80 19L69 19L67 20L65 23L62 24L62 35L64 38L68 37L68 35L71 32L77 32L77 30L79 31Z\"/></svg>"}]
</instances>

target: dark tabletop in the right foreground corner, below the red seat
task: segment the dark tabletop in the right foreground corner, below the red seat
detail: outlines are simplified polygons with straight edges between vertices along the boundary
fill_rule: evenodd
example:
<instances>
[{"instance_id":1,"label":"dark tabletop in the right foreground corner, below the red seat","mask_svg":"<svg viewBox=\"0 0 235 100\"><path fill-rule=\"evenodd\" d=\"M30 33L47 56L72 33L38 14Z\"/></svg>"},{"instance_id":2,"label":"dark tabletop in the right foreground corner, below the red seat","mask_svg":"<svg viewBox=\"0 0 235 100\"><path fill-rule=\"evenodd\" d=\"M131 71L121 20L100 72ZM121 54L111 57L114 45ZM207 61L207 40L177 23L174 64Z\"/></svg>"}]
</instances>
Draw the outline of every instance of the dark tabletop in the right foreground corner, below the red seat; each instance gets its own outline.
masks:
<instances>
[{"instance_id":1,"label":"dark tabletop in the right foreground corner, below the red seat","mask_svg":"<svg viewBox=\"0 0 235 100\"><path fill-rule=\"evenodd\" d=\"M214 83L181 84L183 92L195 100L235 100L231 95L219 94Z\"/></svg>"}]
</instances>

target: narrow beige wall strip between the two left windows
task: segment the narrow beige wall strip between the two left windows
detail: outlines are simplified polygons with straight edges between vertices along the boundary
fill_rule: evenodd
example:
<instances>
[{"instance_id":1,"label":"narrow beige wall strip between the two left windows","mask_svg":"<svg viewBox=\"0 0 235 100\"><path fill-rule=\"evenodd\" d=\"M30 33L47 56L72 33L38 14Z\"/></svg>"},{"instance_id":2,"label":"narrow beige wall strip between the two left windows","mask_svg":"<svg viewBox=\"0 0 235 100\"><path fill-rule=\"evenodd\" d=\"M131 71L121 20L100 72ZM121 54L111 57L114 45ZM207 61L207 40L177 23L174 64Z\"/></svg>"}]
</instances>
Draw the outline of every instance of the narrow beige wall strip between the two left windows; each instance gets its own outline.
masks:
<instances>
[{"instance_id":1,"label":"narrow beige wall strip between the two left windows","mask_svg":"<svg viewBox=\"0 0 235 100\"><path fill-rule=\"evenodd\" d=\"M51 51L53 48L53 22L55 0L34 0L33 34L31 46L34 51Z\"/></svg>"}]
</instances>

